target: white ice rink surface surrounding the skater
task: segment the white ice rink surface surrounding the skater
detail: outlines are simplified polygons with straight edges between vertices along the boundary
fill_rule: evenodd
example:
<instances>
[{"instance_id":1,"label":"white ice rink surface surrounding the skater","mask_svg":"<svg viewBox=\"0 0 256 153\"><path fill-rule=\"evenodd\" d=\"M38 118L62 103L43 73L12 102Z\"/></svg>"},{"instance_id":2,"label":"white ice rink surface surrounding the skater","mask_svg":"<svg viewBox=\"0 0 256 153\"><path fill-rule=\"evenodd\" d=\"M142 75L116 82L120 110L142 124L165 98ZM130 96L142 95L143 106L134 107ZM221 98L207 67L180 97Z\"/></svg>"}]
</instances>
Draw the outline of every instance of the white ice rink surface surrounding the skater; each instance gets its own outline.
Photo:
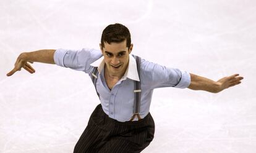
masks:
<instances>
[{"instance_id":1,"label":"white ice rink surface surrounding the skater","mask_svg":"<svg viewBox=\"0 0 256 153\"><path fill-rule=\"evenodd\" d=\"M87 74L34 63L11 77L22 52L100 49L103 29L130 29L132 53L242 84L220 93L154 90L147 153L256 152L256 1L0 1L0 152L72 152L100 103Z\"/></svg>"}]
</instances>

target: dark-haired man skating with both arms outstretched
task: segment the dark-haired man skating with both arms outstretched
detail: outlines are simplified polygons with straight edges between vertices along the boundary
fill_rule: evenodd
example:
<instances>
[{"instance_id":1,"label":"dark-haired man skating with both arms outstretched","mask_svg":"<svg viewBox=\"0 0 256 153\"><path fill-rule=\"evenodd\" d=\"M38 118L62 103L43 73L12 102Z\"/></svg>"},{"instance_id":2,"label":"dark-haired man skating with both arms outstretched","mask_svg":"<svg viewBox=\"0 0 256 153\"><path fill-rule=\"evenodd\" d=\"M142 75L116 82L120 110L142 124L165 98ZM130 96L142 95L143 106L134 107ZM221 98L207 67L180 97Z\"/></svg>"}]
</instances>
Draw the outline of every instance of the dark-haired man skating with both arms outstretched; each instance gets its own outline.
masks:
<instances>
[{"instance_id":1,"label":"dark-haired man skating with both arms outstretched","mask_svg":"<svg viewBox=\"0 0 256 153\"><path fill-rule=\"evenodd\" d=\"M217 82L166 68L131 55L133 44L126 26L107 26L100 50L38 50L19 55L11 76L21 68L35 73L27 62L51 63L84 71L95 85L101 104L96 106L74 152L141 152L153 140L155 123L150 115L154 88L176 87L218 93L240 84L239 74Z\"/></svg>"}]
</instances>

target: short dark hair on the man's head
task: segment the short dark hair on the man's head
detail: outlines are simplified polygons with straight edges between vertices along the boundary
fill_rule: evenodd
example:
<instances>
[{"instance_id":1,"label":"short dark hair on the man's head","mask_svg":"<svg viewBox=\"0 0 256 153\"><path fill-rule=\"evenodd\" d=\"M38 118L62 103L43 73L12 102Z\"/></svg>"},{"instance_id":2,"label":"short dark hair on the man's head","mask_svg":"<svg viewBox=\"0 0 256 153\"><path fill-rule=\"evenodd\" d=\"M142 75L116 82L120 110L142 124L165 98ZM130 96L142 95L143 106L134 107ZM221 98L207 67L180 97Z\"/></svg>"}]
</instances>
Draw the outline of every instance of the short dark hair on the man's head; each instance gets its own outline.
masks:
<instances>
[{"instance_id":1,"label":"short dark hair on the man's head","mask_svg":"<svg viewBox=\"0 0 256 153\"><path fill-rule=\"evenodd\" d=\"M120 23L115 23L113 25L108 25L102 32L101 35L101 46L104 46L104 42L122 42L126 40L126 47L130 48L130 31L129 29L121 25Z\"/></svg>"}]
</instances>

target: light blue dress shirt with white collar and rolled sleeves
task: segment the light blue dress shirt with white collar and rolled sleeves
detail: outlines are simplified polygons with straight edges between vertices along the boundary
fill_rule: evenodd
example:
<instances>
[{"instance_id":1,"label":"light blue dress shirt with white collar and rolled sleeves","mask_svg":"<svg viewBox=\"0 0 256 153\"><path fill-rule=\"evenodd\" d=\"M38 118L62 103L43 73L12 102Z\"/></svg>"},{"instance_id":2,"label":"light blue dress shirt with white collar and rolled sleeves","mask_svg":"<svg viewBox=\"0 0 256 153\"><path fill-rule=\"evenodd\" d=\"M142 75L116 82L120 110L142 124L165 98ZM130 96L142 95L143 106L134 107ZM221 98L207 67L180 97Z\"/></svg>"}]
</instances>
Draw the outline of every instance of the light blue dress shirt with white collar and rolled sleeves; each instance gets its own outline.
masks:
<instances>
[{"instance_id":1,"label":"light blue dress shirt with white collar and rolled sleeves","mask_svg":"<svg viewBox=\"0 0 256 153\"><path fill-rule=\"evenodd\" d=\"M187 88L190 84L190 74L186 71L152 63L142 58L140 63L140 79L137 64L129 55L129 64L124 76L109 90L104 77L104 57L100 50L58 49L54 53L56 65L83 71L92 74L94 66L98 67L99 76L96 88L100 94L103 111L112 119L119 122L129 121L133 115L134 107L134 80L141 84L140 117L147 116L154 88L176 87ZM96 92L95 92L96 94ZM138 120L135 117L134 120Z\"/></svg>"}]
</instances>

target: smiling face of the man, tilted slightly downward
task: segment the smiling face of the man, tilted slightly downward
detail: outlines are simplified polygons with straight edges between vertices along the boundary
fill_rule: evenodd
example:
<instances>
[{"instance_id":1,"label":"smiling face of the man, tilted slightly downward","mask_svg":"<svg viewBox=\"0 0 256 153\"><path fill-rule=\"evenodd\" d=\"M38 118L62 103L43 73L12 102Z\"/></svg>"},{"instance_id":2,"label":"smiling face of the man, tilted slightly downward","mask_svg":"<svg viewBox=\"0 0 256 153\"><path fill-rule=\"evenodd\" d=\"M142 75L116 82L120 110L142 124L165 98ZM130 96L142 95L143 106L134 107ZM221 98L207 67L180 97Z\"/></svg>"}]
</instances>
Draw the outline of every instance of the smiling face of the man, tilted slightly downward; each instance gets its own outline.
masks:
<instances>
[{"instance_id":1,"label":"smiling face of the man, tilted slightly downward","mask_svg":"<svg viewBox=\"0 0 256 153\"><path fill-rule=\"evenodd\" d=\"M101 52L105 58L105 66L109 74L121 77L126 72L129 63L129 54L132 52L133 44L130 49L126 46L126 40L122 42L104 42L105 47L101 48Z\"/></svg>"}]
</instances>

